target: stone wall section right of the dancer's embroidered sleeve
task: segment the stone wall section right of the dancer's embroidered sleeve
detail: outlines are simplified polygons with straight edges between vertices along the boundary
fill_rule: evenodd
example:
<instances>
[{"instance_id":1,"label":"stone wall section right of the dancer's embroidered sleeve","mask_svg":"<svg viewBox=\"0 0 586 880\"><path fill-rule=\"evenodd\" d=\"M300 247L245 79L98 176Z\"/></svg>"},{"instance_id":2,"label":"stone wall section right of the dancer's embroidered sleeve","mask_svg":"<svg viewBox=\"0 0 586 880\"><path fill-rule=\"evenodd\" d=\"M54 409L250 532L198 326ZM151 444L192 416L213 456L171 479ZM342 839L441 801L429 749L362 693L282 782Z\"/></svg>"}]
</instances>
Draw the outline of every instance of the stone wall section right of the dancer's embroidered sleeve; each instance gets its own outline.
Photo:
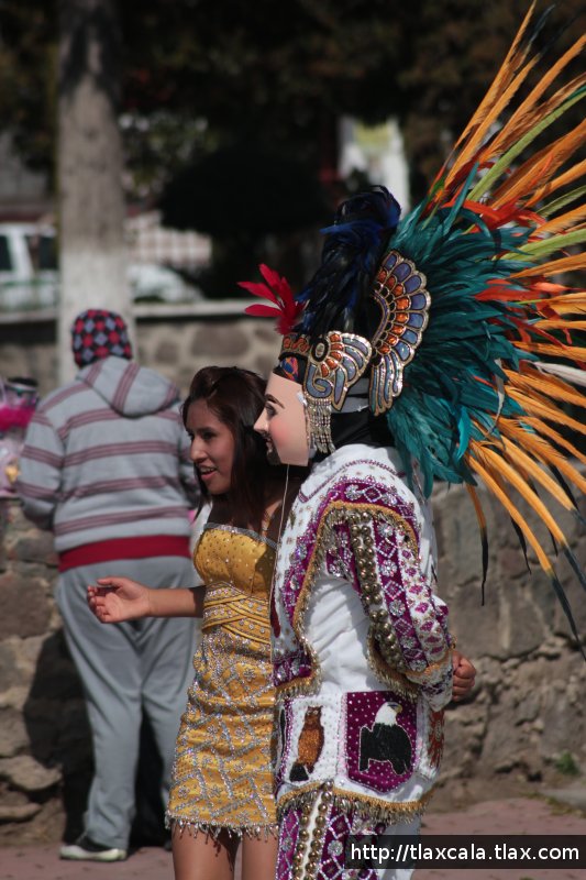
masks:
<instances>
[{"instance_id":1,"label":"stone wall section right of the dancer's embroidered sleeve","mask_svg":"<svg viewBox=\"0 0 586 880\"><path fill-rule=\"evenodd\" d=\"M487 494L479 493L490 546L484 606L478 529L467 493L440 488L433 498L440 593L458 647L478 670L472 700L447 712L439 804L564 788L568 776L586 770L586 662L546 575L532 553L529 574L508 516ZM584 569L584 526L564 512L556 520ZM534 530L550 550L545 529L538 524ZM586 642L584 591L563 557L556 571Z\"/></svg>"}]
</instances>

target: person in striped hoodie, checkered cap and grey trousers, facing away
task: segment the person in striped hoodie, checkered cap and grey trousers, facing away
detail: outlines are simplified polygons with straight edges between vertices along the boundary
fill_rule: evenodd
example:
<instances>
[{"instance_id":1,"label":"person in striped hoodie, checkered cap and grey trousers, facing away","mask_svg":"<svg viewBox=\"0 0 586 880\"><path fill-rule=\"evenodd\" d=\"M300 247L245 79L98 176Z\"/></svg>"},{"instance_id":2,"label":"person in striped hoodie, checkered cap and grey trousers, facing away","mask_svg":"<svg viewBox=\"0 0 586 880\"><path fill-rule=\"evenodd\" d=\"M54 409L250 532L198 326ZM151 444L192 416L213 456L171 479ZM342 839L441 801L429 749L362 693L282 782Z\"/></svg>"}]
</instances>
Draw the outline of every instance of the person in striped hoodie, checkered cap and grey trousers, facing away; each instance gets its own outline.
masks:
<instances>
[{"instance_id":1,"label":"person in striped hoodie, checkered cap and grey trousers, facing away","mask_svg":"<svg viewBox=\"0 0 586 880\"><path fill-rule=\"evenodd\" d=\"M81 837L62 858L126 858L143 712L163 760L166 802L175 738L191 678L194 620L103 627L88 583L115 571L153 586L191 586L189 512L199 488L179 391L139 366L123 319L90 309L73 326L79 372L32 419L18 493L25 516L51 529L59 560L56 602L81 678L95 777Z\"/></svg>"}]
</instances>

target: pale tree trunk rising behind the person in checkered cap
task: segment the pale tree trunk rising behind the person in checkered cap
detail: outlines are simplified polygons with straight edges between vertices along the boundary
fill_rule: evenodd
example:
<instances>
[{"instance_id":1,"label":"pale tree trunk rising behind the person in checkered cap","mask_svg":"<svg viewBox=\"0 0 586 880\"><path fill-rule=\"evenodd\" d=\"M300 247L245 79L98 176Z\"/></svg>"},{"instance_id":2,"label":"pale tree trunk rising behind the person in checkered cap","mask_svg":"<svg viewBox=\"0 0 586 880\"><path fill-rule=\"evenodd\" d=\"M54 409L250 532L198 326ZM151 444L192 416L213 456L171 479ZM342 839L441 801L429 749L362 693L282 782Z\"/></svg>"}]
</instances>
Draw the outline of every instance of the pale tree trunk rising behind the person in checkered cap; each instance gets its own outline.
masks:
<instances>
[{"instance_id":1,"label":"pale tree trunk rising behind the person in checkered cap","mask_svg":"<svg viewBox=\"0 0 586 880\"><path fill-rule=\"evenodd\" d=\"M115 0L59 0L59 377L75 373L70 327L86 308L121 314L132 333L118 127Z\"/></svg>"}]
</instances>

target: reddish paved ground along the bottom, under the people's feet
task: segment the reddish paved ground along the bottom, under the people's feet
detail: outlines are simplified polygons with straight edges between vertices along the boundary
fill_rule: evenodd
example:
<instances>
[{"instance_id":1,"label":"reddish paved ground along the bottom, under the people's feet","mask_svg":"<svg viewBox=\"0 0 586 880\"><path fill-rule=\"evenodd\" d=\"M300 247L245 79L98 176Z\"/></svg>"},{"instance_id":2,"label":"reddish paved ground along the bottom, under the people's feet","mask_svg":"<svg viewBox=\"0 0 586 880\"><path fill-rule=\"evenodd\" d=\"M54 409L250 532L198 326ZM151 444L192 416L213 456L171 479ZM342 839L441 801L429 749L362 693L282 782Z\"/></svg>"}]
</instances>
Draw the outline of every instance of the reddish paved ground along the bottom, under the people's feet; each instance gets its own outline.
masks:
<instances>
[{"instance_id":1,"label":"reddish paved ground along the bottom, under the people's feet","mask_svg":"<svg viewBox=\"0 0 586 880\"><path fill-rule=\"evenodd\" d=\"M586 836L586 813L552 805L543 799L485 801L465 811L428 813L423 834L543 835L555 845L562 835ZM0 880L173 880L172 856L163 849L141 849L114 865L60 861L55 846L0 848ZM209 880L213 880L210 878ZM413 880L586 880L584 869L489 869L416 871Z\"/></svg>"}]
</instances>

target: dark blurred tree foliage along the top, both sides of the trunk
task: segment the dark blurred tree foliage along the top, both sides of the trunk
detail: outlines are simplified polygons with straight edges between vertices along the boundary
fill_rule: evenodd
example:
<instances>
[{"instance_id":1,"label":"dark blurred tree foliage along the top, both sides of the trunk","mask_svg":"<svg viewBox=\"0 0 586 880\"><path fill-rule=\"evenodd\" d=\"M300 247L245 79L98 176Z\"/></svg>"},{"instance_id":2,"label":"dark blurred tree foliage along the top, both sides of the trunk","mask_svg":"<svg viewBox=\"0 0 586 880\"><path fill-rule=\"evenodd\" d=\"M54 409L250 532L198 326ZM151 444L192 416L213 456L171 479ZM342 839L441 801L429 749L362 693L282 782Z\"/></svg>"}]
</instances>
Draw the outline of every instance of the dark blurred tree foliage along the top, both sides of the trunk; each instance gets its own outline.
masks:
<instances>
[{"instance_id":1,"label":"dark blurred tree foliage along the top, both sides of the trunk","mask_svg":"<svg viewBox=\"0 0 586 880\"><path fill-rule=\"evenodd\" d=\"M0 113L36 167L53 163L63 3L0 0ZM194 158L247 141L325 179L335 169L336 121L351 114L400 120L417 198L528 8L529 0L119 0L129 194L156 198ZM581 10L582 0L556 3L562 42L584 30L573 20Z\"/></svg>"}]
</instances>

